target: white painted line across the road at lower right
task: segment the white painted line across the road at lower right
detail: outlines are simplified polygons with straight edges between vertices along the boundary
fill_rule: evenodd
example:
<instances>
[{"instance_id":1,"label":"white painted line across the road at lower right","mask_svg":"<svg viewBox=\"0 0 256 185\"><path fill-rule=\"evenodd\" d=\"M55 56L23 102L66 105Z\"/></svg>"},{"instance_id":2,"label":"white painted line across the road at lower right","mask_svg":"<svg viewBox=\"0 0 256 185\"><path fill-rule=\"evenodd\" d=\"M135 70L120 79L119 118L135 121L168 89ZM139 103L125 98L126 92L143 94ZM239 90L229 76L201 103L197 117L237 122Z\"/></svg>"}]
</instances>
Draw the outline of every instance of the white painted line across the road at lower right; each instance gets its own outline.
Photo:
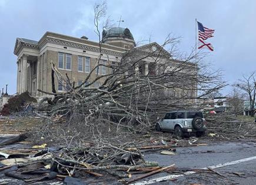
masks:
<instances>
[{"instance_id":1,"label":"white painted line across the road at lower right","mask_svg":"<svg viewBox=\"0 0 256 185\"><path fill-rule=\"evenodd\" d=\"M248 157L245 159L240 159L240 160L235 160L233 162L228 162L228 163L223 163L223 164L218 164L216 166L209 166L211 169L217 169L218 167L224 167L224 166L230 166L232 164L238 164L238 163L242 163L242 162L248 162L249 160L253 160L256 159L256 156L254 157ZM208 167L204 167L202 170L207 170ZM146 180L146 181L142 181L139 183L134 183L131 185L144 185L144 184L152 184L152 183L156 183L156 182L160 182L160 181L164 181L164 180L169 180L169 179L175 179L177 177L182 177L182 176L187 176L189 174L193 174L193 173L197 173L196 171L187 171L184 174L177 174L177 175L169 175L169 176L164 176L164 177L159 177L156 179L151 179L151 180Z\"/></svg>"}]
</instances>

